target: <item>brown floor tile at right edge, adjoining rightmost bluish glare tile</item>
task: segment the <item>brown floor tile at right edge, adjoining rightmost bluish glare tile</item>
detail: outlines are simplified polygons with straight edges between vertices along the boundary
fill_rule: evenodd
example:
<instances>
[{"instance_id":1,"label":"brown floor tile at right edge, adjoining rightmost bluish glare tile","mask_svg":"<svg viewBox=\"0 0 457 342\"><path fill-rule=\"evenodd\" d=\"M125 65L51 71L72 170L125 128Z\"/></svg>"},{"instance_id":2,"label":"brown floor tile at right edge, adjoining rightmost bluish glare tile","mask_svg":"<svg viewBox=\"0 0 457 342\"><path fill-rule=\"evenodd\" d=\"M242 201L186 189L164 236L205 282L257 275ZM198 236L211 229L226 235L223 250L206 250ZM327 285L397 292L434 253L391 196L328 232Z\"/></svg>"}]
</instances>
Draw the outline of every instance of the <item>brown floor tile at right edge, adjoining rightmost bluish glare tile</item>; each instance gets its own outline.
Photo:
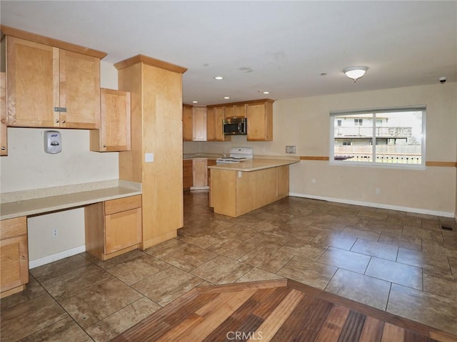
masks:
<instances>
[{"instance_id":1,"label":"brown floor tile at right edge, adjoining rightmost bluish glare tile","mask_svg":"<svg viewBox=\"0 0 457 342\"><path fill-rule=\"evenodd\" d=\"M424 269L423 291L454 299L457 302L457 276Z\"/></svg>"}]
</instances>

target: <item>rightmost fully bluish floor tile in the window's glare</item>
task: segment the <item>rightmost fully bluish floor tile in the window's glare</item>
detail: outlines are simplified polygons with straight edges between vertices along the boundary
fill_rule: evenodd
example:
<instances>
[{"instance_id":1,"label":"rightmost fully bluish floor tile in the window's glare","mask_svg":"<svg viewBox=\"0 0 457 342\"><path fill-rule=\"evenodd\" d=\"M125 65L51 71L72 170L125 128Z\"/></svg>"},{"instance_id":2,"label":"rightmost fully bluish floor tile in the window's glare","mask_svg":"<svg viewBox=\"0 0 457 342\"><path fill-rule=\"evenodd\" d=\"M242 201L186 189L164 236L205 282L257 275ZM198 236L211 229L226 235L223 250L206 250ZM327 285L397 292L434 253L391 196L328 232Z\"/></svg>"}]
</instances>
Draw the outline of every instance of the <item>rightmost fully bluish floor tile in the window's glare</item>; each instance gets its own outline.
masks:
<instances>
[{"instance_id":1,"label":"rightmost fully bluish floor tile in the window's glare","mask_svg":"<svg viewBox=\"0 0 457 342\"><path fill-rule=\"evenodd\" d=\"M422 290L422 269L385 259L371 258L367 276Z\"/></svg>"}]
</instances>

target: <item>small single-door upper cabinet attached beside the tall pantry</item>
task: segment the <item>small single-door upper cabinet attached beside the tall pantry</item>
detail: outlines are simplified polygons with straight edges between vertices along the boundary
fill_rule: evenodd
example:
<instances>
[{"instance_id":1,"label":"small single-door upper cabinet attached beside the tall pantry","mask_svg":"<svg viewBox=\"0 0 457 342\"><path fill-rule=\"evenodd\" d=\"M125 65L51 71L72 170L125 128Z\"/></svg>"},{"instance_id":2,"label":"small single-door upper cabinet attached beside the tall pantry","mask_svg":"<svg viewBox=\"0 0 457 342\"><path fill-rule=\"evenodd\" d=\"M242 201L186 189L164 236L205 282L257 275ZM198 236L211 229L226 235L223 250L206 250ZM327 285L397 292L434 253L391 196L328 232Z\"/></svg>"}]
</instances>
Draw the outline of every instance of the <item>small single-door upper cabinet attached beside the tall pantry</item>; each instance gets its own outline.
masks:
<instances>
[{"instance_id":1,"label":"small single-door upper cabinet attached beside the tall pantry","mask_svg":"<svg viewBox=\"0 0 457 342\"><path fill-rule=\"evenodd\" d=\"M91 151L130 150L130 102L128 91L101 89L100 129L91 130Z\"/></svg>"}]
</instances>

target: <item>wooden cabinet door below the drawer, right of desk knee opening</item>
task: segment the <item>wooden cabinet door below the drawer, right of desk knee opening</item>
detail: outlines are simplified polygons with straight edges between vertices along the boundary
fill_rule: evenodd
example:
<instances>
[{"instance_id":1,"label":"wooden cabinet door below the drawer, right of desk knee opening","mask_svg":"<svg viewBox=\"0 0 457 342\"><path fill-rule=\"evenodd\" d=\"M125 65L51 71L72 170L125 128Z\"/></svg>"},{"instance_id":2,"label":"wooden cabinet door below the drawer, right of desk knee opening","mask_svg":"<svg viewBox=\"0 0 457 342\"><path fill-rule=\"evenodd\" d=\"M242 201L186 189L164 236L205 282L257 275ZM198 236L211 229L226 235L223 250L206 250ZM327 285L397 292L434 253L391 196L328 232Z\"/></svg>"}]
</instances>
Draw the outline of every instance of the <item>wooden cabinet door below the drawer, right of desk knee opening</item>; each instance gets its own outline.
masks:
<instances>
[{"instance_id":1,"label":"wooden cabinet door below the drawer, right of desk knee opening","mask_svg":"<svg viewBox=\"0 0 457 342\"><path fill-rule=\"evenodd\" d=\"M105 217L105 254L141 242L141 208L116 212Z\"/></svg>"}]
</instances>

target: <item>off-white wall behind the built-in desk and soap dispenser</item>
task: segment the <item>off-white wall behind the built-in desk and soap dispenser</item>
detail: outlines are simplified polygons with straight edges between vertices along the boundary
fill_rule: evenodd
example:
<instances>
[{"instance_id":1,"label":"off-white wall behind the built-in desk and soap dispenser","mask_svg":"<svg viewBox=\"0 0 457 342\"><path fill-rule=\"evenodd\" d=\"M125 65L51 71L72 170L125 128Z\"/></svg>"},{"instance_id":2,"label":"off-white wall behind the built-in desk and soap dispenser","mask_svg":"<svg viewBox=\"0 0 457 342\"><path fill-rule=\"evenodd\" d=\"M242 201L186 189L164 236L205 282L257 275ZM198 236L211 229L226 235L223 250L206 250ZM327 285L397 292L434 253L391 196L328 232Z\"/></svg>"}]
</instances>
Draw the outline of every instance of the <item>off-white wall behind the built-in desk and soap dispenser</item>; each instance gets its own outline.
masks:
<instances>
[{"instance_id":1,"label":"off-white wall behind the built-in desk and soap dispenser","mask_svg":"<svg viewBox=\"0 0 457 342\"><path fill-rule=\"evenodd\" d=\"M101 62L101 87L117 89L117 71ZM1 192L113 180L119 177L117 152L91 152L89 130L59 130L62 152L46 154L41 128L8 128L9 155L0 158ZM28 219L32 266L84 251L84 209ZM58 236L51 237L51 230Z\"/></svg>"}]
</instances>

